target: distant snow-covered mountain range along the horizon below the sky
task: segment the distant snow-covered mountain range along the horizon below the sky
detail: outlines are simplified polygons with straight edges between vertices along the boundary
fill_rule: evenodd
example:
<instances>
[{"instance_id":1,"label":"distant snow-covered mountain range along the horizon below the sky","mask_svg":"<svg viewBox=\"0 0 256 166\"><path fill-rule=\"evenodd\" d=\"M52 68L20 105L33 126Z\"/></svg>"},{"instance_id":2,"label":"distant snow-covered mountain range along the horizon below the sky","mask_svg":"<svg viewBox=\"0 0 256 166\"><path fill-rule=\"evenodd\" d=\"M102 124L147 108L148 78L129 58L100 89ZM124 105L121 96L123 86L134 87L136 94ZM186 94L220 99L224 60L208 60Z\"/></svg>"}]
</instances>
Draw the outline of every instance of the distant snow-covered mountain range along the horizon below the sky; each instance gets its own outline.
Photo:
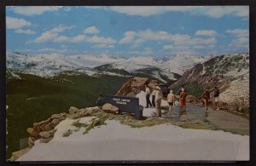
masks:
<instances>
[{"instance_id":1,"label":"distant snow-covered mountain range along the horizon below the sky","mask_svg":"<svg viewBox=\"0 0 256 166\"><path fill-rule=\"evenodd\" d=\"M131 58L114 57L107 54L91 55L76 54L64 56L61 54L21 54L17 52L7 52L7 67L13 71L25 72L41 77L52 77L61 72L75 71L84 72L88 75L97 74L97 72L108 72L107 74L142 73L157 69L154 75L164 73L166 77L173 75L182 75L191 66L207 60L205 57L192 57L176 55L170 58L156 60L152 57L134 56ZM102 66L111 66L112 71L101 71ZM101 66L101 67L97 67ZM151 70L148 70L151 68ZM160 70L159 70L160 69ZM122 71L121 73L119 73ZM111 72L111 73L109 73ZM177 79L177 77L170 77ZM172 80L173 80L172 79Z\"/></svg>"}]
</instances>

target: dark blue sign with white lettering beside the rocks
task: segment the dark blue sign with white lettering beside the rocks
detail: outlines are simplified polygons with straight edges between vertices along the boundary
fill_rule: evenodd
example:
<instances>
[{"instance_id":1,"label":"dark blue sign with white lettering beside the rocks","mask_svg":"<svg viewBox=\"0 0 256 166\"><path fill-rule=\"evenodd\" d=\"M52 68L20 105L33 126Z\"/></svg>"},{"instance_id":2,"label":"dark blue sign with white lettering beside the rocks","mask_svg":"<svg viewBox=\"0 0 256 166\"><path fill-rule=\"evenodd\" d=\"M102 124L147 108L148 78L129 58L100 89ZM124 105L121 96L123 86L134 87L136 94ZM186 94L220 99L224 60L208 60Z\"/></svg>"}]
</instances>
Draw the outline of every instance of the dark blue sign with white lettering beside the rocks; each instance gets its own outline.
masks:
<instances>
[{"instance_id":1,"label":"dark blue sign with white lettering beside the rocks","mask_svg":"<svg viewBox=\"0 0 256 166\"><path fill-rule=\"evenodd\" d=\"M106 95L104 100L107 103L117 106L120 112L135 113L137 119L142 119L143 109L139 106L138 98L131 98L125 96Z\"/></svg>"}]
</instances>

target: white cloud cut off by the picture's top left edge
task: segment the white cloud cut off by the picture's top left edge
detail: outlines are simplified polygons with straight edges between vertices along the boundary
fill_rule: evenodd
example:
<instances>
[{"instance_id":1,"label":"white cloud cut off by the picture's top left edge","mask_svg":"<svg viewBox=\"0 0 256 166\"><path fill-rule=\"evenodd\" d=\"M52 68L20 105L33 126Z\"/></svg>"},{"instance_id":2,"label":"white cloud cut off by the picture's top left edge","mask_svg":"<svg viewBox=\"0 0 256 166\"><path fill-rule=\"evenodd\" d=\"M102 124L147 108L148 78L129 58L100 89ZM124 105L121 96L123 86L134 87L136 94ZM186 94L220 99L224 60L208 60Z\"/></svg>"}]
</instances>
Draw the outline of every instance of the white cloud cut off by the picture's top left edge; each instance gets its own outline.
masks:
<instances>
[{"instance_id":1,"label":"white cloud cut off by the picture's top left edge","mask_svg":"<svg viewBox=\"0 0 256 166\"><path fill-rule=\"evenodd\" d=\"M54 12L61 9L61 6L19 6L11 7L16 14L23 14L26 16L40 15L44 12Z\"/></svg>"}]
</instances>

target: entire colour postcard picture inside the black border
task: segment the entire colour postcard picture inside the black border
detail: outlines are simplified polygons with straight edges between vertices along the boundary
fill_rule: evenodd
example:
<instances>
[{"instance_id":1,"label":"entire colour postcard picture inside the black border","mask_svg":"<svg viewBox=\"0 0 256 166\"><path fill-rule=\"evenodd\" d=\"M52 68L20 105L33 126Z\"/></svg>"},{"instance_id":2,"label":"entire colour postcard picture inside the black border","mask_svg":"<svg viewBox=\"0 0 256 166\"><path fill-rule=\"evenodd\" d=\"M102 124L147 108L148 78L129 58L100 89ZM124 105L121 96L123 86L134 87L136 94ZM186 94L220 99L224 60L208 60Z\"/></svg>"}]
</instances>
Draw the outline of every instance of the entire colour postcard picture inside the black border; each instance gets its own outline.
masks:
<instances>
[{"instance_id":1,"label":"entire colour postcard picture inside the black border","mask_svg":"<svg viewBox=\"0 0 256 166\"><path fill-rule=\"evenodd\" d=\"M9 161L248 161L248 6L8 6Z\"/></svg>"}]
</instances>

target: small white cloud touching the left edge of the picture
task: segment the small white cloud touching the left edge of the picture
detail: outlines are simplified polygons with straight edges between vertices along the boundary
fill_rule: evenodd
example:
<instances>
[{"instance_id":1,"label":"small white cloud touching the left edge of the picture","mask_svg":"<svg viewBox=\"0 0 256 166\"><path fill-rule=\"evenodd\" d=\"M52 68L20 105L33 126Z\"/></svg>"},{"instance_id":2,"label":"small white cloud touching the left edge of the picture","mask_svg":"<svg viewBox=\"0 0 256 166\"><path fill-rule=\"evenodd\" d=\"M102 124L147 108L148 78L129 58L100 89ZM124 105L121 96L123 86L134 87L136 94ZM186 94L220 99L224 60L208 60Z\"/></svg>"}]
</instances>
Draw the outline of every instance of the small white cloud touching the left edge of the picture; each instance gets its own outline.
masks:
<instances>
[{"instance_id":1,"label":"small white cloud touching the left edge of the picture","mask_svg":"<svg viewBox=\"0 0 256 166\"><path fill-rule=\"evenodd\" d=\"M7 29L20 29L24 26L31 26L32 24L24 19L17 19L14 17L6 17Z\"/></svg>"}]
</instances>

